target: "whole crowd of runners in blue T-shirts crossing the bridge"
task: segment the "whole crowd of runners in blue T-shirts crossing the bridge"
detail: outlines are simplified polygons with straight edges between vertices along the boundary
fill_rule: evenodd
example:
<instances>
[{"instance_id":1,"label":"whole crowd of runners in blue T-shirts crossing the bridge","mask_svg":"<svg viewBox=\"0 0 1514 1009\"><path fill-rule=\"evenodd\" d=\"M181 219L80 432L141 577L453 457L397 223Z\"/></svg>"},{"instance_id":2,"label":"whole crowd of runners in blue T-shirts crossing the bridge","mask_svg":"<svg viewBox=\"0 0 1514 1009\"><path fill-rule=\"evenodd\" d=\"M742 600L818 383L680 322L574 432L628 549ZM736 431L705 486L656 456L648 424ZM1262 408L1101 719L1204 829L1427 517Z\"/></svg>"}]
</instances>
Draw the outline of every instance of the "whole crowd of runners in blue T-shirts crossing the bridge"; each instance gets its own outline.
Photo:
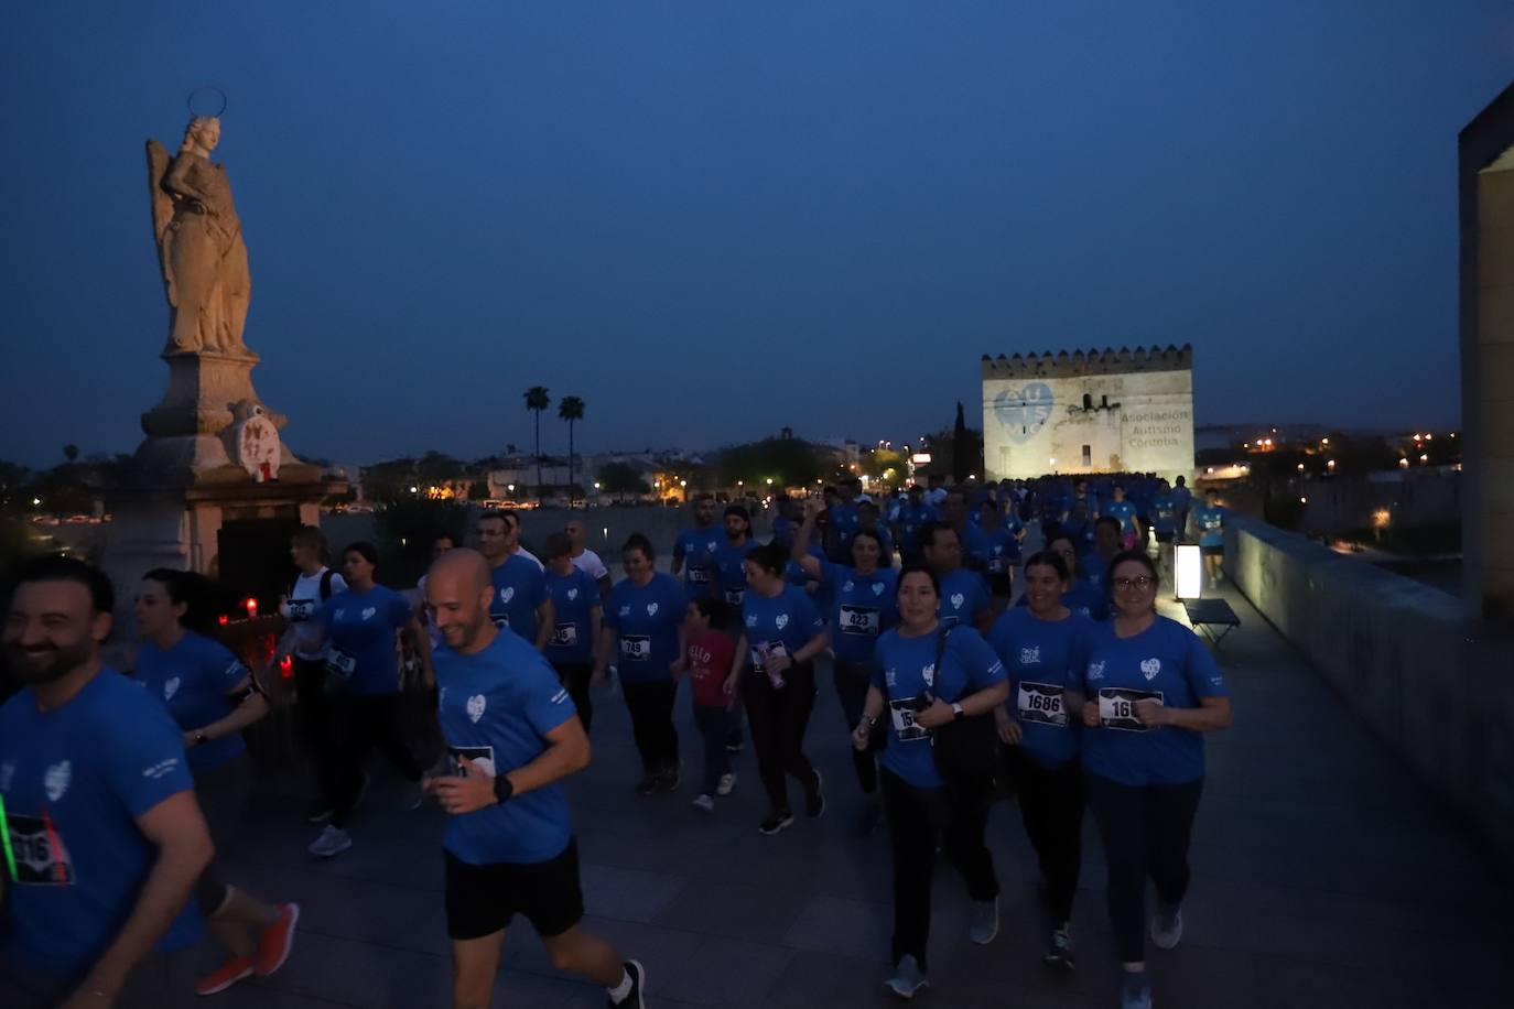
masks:
<instances>
[{"instance_id":1,"label":"whole crowd of runners in blue T-shirts crossing the bridge","mask_svg":"<svg viewBox=\"0 0 1514 1009\"><path fill-rule=\"evenodd\" d=\"M828 799L860 838L886 827L886 985L904 998L928 985L937 856L972 900L966 938L998 935L986 826L1010 793L1040 865L1043 961L1075 968L1087 808L1108 865L1119 1004L1151 1006L1148 939L1167 950L1182 936L1204 734L1231 720L1210 652L1155 604L1178 540L1198 542L1211 584L1223 576L1214 495L1196 501L1181 477L1116 475L874 499L852 481L769 507L760 543L748 505L698 496L668 570L634 534L619 581L586 549L581 522L545 537L537 557L516 513L483 511L474 546L436 537L412 593L377 581L371 543L347 545L332 570L321 531L301 528L280 605L288 631L260 669L215 640L200 576L157 569L133 587L135 670L118 675L101 660L109 579L62 557L24 564L5 629L20 690L0 706L5 1004L154 1004L142 992L182 976L203 927L226 955L192 982L201 995L283 965L298 935L294 894L254 896L224 865L253 790L242 731L269 713L288 658L312 768L312 856L362 841L350 821L372 749L410 782L406 805L448 814L457 1007L491 1004L516 915L610 1006L646 1004L640 962L581 927L562 788L590 761L593 688L612 676L640 756L627 781L637 796L686 790L713 815L749 744L763 835L796 814L822 817ZM433 767L404 717L407 676L435 699L445 752ZM818 731L849 735L845 785L825 782L805 752L825 679L845 725ZM675 728L683 681L692 755Z\"/></svg>"}]
</instances>

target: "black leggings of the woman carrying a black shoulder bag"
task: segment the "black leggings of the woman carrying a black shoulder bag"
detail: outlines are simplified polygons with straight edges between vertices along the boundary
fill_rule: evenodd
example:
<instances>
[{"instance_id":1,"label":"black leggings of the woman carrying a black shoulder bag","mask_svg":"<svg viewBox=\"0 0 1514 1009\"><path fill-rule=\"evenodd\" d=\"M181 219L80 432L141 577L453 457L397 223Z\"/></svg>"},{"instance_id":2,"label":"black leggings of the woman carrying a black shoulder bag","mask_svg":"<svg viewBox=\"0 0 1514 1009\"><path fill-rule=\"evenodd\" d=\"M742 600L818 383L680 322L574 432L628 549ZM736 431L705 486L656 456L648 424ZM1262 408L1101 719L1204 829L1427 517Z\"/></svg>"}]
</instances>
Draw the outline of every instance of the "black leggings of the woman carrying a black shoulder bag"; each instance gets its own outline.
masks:
<instances>
[{"instance_id":1,"label":"black leggings of the woman carrying a black shoulder bag","mask_svg":"<svg viewBox=\"0 0 1514 1009\"><path fill-rule=\"evenodd\" d=\"M931 932L931 873L936 841L974 900L999 896L993 856L983 843L989 806L958 800L948 788L916 788L883 768L883 809L893 846L893 962L913 956L927 970L925 944Z\"/></svg>"}]
</instances>

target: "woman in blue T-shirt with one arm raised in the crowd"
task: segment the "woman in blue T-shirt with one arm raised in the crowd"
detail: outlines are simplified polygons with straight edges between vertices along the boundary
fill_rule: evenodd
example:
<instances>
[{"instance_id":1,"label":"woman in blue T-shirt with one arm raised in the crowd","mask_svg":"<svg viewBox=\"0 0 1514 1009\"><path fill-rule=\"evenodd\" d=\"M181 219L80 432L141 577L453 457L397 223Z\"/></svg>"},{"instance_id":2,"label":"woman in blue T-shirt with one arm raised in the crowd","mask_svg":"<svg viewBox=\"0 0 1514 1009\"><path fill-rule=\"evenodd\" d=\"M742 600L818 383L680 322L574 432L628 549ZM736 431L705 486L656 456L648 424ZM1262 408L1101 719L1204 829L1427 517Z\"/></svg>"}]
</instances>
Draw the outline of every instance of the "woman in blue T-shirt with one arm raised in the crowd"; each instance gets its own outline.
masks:
<instances>
[{"instance_id":1,"label":"woman in blue T-shirt with one arm raised in the crowd","mask_svg":"<svg viewBox=\"0 0 1514 1009\"><path fill-rule=\"evenodd\" d=\"M899 573L893 557L874 529L852 534L851 564L833 564L808 546L815 537L822 504L810 499L804 507L804 525L793 540L792 561L804 573L821 582L824 598L831 601L831 650L836 655L836 696L842 702L846 728L855 728L868 700L872 682L872 654L878 635L899 622ZM808 546L808 549L807 549ZM861 834L871 834L883 815L878 805L878 753L887 741L887 729L877 726L866 749L852 749L857 784L866 803L858 821Z\"/></svg>"}]
</instances>

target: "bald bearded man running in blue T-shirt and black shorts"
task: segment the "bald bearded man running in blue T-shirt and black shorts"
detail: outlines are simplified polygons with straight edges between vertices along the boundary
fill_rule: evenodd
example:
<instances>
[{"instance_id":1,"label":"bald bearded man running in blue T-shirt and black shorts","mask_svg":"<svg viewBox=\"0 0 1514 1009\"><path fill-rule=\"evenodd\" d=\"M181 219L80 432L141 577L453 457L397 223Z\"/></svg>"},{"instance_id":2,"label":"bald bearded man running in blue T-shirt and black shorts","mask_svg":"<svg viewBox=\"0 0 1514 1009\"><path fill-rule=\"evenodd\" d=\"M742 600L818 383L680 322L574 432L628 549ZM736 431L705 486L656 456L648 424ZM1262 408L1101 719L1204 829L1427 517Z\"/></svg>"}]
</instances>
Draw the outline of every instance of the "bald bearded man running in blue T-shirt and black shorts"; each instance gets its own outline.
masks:
<instances>
[{"instance_id":1,"label":"bald bearded man running in blue T-shirt and black shorts","mask_svg":"<svg viewBox=\"0 0 1514 1009\"><path fill-rule=\"evenodd\" d=\"M589 738L540 652L495 628L494 596L489 564L468 549L444 554L425 579L444 641L433 666L448 775L427 788L451 814L442 847L453 1006L491 1004L504 930L521 914L553 967L604 985L610 1006L643 1009L642 965L578 926L578 846L559 782L589 764Z\"/></svg>"}]
</instances>

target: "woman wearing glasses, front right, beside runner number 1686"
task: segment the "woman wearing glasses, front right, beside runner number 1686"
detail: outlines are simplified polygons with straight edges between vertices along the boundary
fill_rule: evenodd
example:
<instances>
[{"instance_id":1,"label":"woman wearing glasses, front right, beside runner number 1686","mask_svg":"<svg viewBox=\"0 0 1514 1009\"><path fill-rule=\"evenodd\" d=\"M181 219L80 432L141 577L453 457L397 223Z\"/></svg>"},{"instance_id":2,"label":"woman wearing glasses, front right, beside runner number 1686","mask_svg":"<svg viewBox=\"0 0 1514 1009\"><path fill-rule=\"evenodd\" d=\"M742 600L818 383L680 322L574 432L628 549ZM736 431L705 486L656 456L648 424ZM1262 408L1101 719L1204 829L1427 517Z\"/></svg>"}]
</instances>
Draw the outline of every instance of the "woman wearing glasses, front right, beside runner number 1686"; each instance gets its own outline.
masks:
<instances>
[{"instance_id":1,"label":"woman wearing glasses, front right, beside runner number 1686","mask_svg":"<svg viewBox=\"0 0 1514 1009\"><path fill-rule=\"evenodd\" d=\"M1231 725L1214 657L1157 616L1157 566L1142 551L1110 561L1116 616L1089 640L1079 693L1084 785L1108 861L1108 909L1123 965L1122 1009L1149 1009L1146 877L1157 886L1151 938L1182 938L1188 838L1204 790L1204 734Z\"/></svg>"}]
</instances>

